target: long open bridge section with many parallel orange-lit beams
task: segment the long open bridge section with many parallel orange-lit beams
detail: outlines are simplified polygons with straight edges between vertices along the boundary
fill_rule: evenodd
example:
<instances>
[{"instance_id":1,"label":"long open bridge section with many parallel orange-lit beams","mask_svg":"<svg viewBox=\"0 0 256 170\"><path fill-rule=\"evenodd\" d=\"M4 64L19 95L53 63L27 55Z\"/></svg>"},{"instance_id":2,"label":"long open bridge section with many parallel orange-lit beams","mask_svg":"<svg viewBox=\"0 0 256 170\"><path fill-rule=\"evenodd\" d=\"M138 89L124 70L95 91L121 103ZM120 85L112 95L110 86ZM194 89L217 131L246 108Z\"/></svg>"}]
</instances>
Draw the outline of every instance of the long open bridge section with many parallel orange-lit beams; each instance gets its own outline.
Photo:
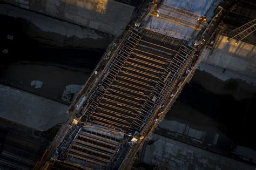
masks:
<instances>
[{"instance_id":1,"label":"long open bridge section with many parallel orange-lit beams","mask_svg":"<svg viewBox=\"0 0 256 170\"><path fill-rule=\"evenodd\" d=\"M134 132L134 119L177 53L178 47L170 46L131 31L113 61L117 64L109 69L102 82L109 87L85 113L83 121L117 128L126 134Z\"/></svg>"}]
</instances>

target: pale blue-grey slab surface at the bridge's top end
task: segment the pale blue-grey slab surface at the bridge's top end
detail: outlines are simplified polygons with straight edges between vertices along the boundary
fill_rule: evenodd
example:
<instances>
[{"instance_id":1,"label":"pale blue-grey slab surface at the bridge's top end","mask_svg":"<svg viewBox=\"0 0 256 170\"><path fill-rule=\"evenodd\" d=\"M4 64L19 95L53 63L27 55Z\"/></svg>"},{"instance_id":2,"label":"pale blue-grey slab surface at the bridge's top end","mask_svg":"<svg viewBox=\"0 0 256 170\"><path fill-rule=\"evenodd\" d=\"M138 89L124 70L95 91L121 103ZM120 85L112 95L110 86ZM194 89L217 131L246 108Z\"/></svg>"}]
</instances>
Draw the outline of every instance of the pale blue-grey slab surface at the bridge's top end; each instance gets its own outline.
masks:
<instances>
[{"instance_id":1,"label":"pale blue-grey slab surface at the bridge's top end","mask_svg":"<svg viewBox=\"0 0 256 170\"><path fill-rule=\"evenodd\" d=\"M148 22L148 24L146 25L146 29L153 30L153 31L162 33L164 35L168 35L178 39L186 39L186 40L191 39L192 37L196 36L199 32L196 29L194 29L194 28L199 28L199 23L197 19L203 15L207 16L208 18L211 18L214 14L213 10L217 8L220 2L221 1L219 0L218 1L165 0L163 4L159 6L159 9L158 9L160 16L162 14L164 16L171 16L171 18L178 18L178 22L183 23L182 20L184 20L186 23L190 23L190 24L183 25L184 23L180 24L177 22L171 22L161 17L151 17L150 22ZM173 10L173 8L178 10ZM198 18L186 16L181 10L191 12L193 13L194 16L198 16Z\"/></svg>"}]
</instances>

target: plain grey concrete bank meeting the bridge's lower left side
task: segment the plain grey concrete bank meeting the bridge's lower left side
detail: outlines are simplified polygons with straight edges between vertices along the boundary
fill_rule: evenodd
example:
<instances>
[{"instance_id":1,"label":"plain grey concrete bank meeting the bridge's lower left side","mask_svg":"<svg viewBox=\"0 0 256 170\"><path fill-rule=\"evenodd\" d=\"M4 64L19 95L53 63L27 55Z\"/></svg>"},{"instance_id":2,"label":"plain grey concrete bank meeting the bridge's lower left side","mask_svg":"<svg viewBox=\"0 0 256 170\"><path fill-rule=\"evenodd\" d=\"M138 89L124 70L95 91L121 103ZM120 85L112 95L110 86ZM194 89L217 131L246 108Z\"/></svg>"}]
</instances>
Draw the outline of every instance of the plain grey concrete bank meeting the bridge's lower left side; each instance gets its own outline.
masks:
<instances>
[{"instance_id":1,"label":"plain grey concrete bank meeting the bridge's lower left side","mask_svg":"<svg viewBox=\"0 0 256 170\"><path fill-rule=\"evenodd\" d=\"M0 117L39 131L68 119L68 106L0 84Z\"/></svg>"}]
</instances>

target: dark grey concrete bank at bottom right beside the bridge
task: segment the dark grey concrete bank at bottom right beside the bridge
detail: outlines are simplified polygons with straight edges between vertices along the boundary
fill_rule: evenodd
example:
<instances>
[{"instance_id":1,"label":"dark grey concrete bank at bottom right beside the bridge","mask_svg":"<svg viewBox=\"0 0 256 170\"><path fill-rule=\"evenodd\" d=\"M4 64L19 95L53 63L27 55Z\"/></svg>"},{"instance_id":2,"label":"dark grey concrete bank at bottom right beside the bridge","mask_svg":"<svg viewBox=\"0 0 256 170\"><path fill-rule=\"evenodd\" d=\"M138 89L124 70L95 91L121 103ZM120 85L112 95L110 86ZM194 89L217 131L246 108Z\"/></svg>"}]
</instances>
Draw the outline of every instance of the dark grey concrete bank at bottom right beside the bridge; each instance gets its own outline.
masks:
<instances>
[{"instance_id":1,"label":"dark grey concrete bank at bottom right beside the bridge","mask_svg":"<svg viewBox=\"0 0 256 170\"><path fill-rule=\"evenodd\" d=\"M254 166L193 147L182 142L152 135L155 141L146 145L143 162L167 165L170 169L255 169Z\"/></svg>"}]
</instances>

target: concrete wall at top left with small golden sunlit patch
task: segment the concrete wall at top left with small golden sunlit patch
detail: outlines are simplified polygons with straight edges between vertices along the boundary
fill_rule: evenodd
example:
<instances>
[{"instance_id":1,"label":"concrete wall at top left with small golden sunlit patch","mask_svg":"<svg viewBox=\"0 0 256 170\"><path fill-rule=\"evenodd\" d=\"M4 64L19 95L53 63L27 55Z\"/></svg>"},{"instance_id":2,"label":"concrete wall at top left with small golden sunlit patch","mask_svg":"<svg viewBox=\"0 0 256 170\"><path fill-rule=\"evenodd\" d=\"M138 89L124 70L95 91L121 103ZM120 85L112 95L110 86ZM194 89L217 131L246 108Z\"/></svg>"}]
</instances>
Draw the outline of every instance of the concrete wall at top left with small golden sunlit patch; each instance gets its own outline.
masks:
<instances>
[{"instance_id":1,"label":"concrete wall at top left with small golden sunlit patch","mask_svg":"<svg viewBox=\"0 0 256 170\"><path fill-rule=\"evenodd\" d=\"M134 7L113 0L0 0L111 35L129 23Z\"/></svg>"}]
</instances>

